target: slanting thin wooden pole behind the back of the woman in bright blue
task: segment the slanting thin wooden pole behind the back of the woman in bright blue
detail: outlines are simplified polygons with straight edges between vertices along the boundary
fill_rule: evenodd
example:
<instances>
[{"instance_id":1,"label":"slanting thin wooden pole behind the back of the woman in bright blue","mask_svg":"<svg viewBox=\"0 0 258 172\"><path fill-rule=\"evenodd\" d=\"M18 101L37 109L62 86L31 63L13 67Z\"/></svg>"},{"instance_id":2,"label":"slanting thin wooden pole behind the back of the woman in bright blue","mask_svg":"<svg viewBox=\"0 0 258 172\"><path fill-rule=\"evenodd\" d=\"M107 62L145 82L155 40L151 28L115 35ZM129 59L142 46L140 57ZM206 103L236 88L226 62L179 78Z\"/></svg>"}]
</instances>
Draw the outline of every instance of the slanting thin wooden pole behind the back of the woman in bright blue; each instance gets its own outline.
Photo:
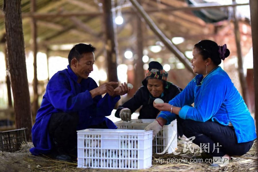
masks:
<instances>
[{"instance_id":1,"label":"slanting thin wooden pole behind the back of the woman in bright blue","mask_svg":"<svg viewBox=\"0 0 258 172\"><path fill-rule=\"evenodd\" d=\"M235 1L236 0L233 0L233 2ZM234 18L234 34L236 39L236 51L237 51L237 57L238 57L239 80L242 87L243 99L245 100L245 103L249 105L247 82L244 76L244 69L243 69L242 51L241 51L241 44L240 44L241 38L240 38L240 32L239 32L238 19L236 16L236 7L233 7L233 18Z\"/></svg>"}]
</instances>

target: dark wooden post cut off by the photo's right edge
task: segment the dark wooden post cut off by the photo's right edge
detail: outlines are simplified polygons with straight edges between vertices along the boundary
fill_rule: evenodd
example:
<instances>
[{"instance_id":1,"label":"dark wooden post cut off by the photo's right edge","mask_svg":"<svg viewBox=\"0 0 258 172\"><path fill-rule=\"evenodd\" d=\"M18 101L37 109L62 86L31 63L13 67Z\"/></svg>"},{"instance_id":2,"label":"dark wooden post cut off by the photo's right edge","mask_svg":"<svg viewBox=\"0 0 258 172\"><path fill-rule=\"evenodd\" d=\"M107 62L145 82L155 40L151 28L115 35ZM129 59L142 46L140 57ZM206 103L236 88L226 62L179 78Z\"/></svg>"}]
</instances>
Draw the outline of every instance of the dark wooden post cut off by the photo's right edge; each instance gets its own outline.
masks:
<instances>
[{"instance_id":1,"label":"dark wooden post cut off by the photo's right edge","mask_svg":"<svg viewBox=\"0 0 258 172\"><path fill-rule=\"evenodd\" d=\"M250 13L251 13L251 27L252 27L252 39L253 39L253 76L254 76L254 88L255 88L255 119L256 127L258 126L258 1L250 0ZM258 137L258 132L256 132Z\"/></svg>"}]
</instances>

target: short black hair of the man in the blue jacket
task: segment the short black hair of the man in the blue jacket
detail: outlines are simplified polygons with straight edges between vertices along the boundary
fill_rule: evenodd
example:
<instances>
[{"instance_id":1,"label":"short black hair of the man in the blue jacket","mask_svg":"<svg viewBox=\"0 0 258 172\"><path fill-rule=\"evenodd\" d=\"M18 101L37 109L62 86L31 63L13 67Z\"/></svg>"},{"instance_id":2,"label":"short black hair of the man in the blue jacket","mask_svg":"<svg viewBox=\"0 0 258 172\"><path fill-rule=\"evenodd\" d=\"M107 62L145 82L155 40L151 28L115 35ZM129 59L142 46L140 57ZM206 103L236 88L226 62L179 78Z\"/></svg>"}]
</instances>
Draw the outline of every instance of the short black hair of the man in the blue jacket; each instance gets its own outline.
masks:
<instances>
[{"instance_id":1,"label":"short black hair of the man in the blue jacket","mask_svg":"<svg viewBox=\"0 0 258 172\"><path fill-rule=\"evenodd\" d=\"M88 45L88 44L80 43L80 44L74 45L68 55L69 66L71 66L71 61L74 57L76 60L79 61L83 53L90 53L90 52L94 53L95 51L96 51L96 48L93 47L91 44Z\"/></svg>"}]
</instances>

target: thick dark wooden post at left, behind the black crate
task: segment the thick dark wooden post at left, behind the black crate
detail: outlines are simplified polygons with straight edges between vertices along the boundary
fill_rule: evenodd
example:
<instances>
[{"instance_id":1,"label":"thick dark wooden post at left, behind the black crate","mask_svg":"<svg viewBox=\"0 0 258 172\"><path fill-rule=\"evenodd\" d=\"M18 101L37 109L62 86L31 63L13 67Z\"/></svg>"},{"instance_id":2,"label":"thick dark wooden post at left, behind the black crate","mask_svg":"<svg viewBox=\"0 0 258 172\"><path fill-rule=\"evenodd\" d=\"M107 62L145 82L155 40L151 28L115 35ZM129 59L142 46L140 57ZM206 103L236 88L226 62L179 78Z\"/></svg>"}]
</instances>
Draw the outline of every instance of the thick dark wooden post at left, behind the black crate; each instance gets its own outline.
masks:
<instances>
[{"instance_id":1,"label":"thick dark wooden post at left, behind the black crate","mask_svg":"<svg viewBox=\"0 0 258 172\"><path fill-rule=\"evenodd\" d=\"M27 128L26 138L31 141L32 115L21 22L21 1L4 0L3 12L16 127Z\"/></svg>"}]
</instances>

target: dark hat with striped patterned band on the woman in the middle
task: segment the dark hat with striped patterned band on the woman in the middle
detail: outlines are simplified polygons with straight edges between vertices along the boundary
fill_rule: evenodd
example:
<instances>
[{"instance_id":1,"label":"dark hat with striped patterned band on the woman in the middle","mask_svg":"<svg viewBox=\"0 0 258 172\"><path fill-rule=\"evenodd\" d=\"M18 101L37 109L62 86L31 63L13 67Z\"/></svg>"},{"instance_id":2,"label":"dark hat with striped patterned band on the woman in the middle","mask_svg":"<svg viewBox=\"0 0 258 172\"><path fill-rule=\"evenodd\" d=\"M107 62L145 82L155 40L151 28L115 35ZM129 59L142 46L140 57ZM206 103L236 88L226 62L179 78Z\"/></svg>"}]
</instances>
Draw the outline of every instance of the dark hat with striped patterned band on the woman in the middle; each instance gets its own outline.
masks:
<instances>
[{"instance_id":1,"label":"dark hat with striped patterned band on the woman in the middle","mask_svg":"<svg viewBox=\"0 0 258 172\"><path fill-rule=\"evenodd\" d=\"M147 78L157 78L159 80L167 81L168 73L163 69L162 65L157 61L151 61L146 73L146 78L142 81L142 85L147 85Z\"/></svg>"}]
</instances>

